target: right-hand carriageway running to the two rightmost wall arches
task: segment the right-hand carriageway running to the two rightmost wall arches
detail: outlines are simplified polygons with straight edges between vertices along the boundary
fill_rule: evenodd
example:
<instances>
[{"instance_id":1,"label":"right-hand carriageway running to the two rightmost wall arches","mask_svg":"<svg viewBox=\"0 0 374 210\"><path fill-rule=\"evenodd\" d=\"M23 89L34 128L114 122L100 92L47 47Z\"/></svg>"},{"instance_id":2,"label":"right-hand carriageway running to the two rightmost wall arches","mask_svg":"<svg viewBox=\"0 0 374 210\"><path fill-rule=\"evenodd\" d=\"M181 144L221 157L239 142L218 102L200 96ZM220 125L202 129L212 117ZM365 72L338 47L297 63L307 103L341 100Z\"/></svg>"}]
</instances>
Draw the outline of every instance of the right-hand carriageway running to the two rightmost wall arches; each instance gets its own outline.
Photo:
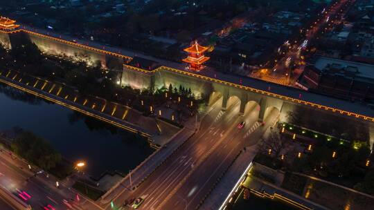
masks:
<instances>
[{"instance_id":1,"label":"right-hand carriageway running to the two rightmost wall arches","mask_svg":"<svg viewBox=\"0 0 374 210\"><path fill-rule=\"evenodd\" d=\"M178 189L174 195L166 200L165 204L158 209L196 209L199 202L214 186L217 179L228 169L235 156L238 155L244 146L253 146L258 143L272 122L278 117L278 111L271 111L265 126L258 126L253 130L252 125L256 123L258 111L253 107L251 112L244 117L239 117L238 121L245 120L246 126L241 130L234 128L220 146L199 166L190 176L184 185ZM271 123L270 123L271 122ZM249 133L249 135L247 135Z\"/></svg>"}]
</instances>

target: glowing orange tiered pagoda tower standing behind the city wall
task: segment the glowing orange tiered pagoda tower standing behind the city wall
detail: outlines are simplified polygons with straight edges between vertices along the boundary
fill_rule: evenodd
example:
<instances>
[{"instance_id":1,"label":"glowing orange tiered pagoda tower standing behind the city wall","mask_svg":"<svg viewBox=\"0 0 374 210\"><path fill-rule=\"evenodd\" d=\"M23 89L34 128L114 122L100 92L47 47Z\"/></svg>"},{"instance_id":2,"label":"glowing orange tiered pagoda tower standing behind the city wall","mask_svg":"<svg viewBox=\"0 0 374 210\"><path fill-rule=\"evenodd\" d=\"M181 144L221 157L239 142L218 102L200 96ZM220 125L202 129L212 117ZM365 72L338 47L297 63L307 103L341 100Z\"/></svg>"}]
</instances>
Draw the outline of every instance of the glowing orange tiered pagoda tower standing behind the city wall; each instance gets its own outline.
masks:
<instances>
[{"instance_id":1,"label":"glowing orange tiered pagoda tower standing behind the city wall","mask_svg":"<svg viewBox=\"0 0 374 210\"><path fill-rule=\"evenodd\" d=\"M204 56L206 50L208 48L199 45L197 41L189 48L184 49L188 53L188 57L183 59L183 61L188 63L188 69L199 71L205 67L203 64L209 59L209 57Z\"/></svg>"}]
</instances>

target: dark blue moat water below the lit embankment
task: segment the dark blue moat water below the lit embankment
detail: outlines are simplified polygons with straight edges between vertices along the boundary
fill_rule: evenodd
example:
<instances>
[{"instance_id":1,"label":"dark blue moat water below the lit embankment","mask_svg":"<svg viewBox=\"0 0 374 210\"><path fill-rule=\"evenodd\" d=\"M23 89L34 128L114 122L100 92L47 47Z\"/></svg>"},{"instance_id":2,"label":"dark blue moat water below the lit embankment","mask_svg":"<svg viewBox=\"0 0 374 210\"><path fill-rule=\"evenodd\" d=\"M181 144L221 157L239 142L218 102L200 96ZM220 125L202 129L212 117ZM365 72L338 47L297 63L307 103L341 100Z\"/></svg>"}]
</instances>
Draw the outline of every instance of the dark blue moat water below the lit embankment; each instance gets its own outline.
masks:
<instances>
[{"instance_id":1,"label":"dark blue moat water below the lit embankment","mask_svg":"<svg viewBox=\"0 0 374 210\"><path fill-rule=\"evenodd\" d=\"M95 178L127 173L154 151L144 137L0 84L0 131L14 127L48 140L70 162L86 161Z\"/></svg>"}]
</instances>

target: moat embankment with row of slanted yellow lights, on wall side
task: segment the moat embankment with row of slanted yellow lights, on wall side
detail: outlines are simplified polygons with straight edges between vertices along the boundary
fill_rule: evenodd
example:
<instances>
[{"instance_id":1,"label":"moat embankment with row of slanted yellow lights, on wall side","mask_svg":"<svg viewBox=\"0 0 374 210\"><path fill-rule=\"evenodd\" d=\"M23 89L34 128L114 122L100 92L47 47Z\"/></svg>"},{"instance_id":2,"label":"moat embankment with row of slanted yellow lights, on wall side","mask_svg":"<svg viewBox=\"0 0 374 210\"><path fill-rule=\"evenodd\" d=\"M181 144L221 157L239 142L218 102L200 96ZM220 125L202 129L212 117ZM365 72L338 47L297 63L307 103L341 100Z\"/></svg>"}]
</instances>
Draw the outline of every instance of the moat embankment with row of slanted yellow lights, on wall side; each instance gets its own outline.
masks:
<instances>
[{"instance_id":1,"label":"moat embankment with row of slanted yellow lights, on wall side","mask_svg":"<svg viewBox=\"0 0 374 210\"><path fill-rule=\"evenodd\" d=\"M151 146L159 148L180 128L155 119L145 117L128 106L107 101L91 95L81 95L78 90L14 70L0 70L0 82L26 93L60 104L73 111L94 117L118 128L147 137Z\"/></svg>"}]
</instances>

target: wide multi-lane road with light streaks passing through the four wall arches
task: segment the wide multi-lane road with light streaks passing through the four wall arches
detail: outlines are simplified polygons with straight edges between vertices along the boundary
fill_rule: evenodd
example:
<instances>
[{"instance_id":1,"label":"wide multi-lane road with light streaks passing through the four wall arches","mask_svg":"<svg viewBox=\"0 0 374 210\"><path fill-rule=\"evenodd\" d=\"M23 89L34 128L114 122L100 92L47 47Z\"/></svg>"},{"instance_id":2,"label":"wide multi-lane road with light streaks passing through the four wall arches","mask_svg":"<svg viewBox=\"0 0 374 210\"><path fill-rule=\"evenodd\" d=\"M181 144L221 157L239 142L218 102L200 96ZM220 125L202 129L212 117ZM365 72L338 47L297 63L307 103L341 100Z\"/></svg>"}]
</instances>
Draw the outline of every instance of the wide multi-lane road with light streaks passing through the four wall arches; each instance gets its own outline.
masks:
<instances>
[{"instance_id":1,"label":"wide multi-lane road with light streaks passing through the four wall arches","mask_svg":"<svg viewBox=\"0 0 374 210\"><path fill-rule=\"evenodd\" d=\"M232 99L226 111L220 106L204 117L201 128L181 146L176 153L150 175L134 191L124 188L113 200L119 209L126 200L143 198L139 209L195 209L204 195L213 187L217 178L226 171L244 146L256 144L267 126L259 126L258 104L249 104L240 115L240 102ZM278 113L272 113L267 122L273 122ZM245 122L243 128L238 128ZM253 127L256 124L256 127ZM253 131L260 135L252 137ZM256 133L256 132L254 132ZM253 134L254 134L253 133ZM106 209L110 209L107 205Z\"/></svg>"}]
</instances>

